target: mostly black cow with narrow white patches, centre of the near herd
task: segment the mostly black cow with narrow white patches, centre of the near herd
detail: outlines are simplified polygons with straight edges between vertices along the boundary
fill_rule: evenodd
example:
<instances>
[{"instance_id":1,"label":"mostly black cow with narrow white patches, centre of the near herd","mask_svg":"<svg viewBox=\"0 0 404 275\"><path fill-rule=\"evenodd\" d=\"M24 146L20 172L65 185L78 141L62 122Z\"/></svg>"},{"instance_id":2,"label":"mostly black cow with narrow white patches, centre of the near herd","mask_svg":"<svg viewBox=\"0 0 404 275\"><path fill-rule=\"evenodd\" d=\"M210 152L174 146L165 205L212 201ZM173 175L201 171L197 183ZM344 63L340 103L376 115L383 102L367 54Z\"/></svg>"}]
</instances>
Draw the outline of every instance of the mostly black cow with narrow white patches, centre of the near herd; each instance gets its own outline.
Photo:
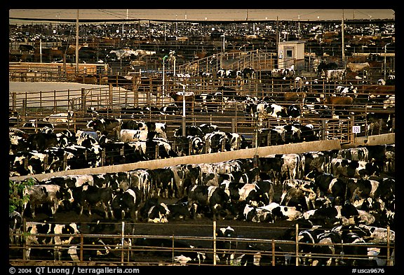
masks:
<instances>
[{"instance_id":1,"label":"mostly black cow with narrow white patches, centre of the near herd","mask_svg":"<svg viewBox=\"0 0 404 275\"><path fill-rule=\"evenodd\" d=\"M194 185L188 192L188 206L191 218L196 218L199 209L208 207L213 220L221 218L222 211L227 209L230 198L224 190L218 186ZM201 211L199 210L199 213Z\"/></svg>"}]
</instances>

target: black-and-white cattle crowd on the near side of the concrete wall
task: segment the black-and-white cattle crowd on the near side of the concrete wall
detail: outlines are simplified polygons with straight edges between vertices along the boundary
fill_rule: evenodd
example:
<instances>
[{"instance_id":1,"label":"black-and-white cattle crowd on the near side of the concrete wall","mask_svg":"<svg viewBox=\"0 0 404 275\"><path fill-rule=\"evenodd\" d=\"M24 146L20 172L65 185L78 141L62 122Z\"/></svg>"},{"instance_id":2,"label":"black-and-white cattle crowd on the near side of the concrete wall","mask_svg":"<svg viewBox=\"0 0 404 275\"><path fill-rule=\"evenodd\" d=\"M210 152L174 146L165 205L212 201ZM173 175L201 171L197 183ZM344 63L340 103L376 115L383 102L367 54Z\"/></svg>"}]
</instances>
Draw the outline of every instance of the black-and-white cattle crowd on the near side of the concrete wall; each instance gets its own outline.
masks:
<instances>
[{"instance_id":1,"label":"black-and-white cattle crowd on the near side of the concrete wall","mask_svg":"<svg viewBox=\"0 0 404 275\"><path fill-rule=\"evenodd\" d=\"M301 246L300 252L305 255L301 265L386 265L386 251L370 244L385 243L387 236L394 241L394 149L394 145L363 146L267 155L257 160L52 176L35 181L22 191L29 195L29 200L22 206L22 213L15 213L11 219L13 232L22 230L21 215L34 220L37 211L46 213L48 218L61 211L74 211L77 216L88 217L102 213L105 220L131 223L170 223L171 220L186 223L199 218L250 223L293 220L311 226L298 233L304 244L314 245ZM15 225L17 217L20 223ZM387 227L390 234L386 233ZM26 230L32 234L72 234L54 238L53 255L55 260L62 259L60 246L68 245L69 260L78 260L78 244L72 240L77 241L74 234L81 230L79 223L49 225L29 221ZM97 226L92 230L94 234L102 232ZM288 234L284 236L285 240L291 238ZM18 238L11 241L18 242ZM102 239L97 238L90 241L102 243ZM132 245L147 245L139 242ZM318 243L328 246L316 246ZM374 255L344 261L341 247L337 245L341 243L369 243L355 248L358 251L349 251L354 249L349 247L343 252L370 255L372 251L384 260L378 262ZM29 248L34 244L48 243L36 235L27 238L27 259L32 256ZM331 251L330 258L316 258L315 253L320 251ZM109 259L107 251L88 253L84 255L85 260ZM309 256L311 253L313 255ZM218 261L229 264L230 254L218 255ZM201 260L201 253L195 253L198 259L185 257L187 260L184 260L184 257L177 255L176 259L182 263L195 262ZM232 257L231 262L237 261L235 255ZM204 259L207 261L206 257ZM260 265L259 261L253 262Z\"/></svg>"}]
</instances>

